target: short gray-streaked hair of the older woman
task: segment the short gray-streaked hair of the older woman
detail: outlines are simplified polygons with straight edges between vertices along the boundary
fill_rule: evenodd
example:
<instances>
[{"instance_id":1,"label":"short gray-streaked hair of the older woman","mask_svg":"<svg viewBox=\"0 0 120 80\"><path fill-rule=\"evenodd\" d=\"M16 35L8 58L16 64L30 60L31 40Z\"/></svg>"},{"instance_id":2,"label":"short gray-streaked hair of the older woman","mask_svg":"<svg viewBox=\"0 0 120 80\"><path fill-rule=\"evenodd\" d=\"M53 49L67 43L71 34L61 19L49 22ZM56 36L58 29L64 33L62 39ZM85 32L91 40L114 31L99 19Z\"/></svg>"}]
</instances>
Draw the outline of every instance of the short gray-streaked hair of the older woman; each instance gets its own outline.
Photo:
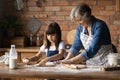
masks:
<instances>
[{"instance_id":1,"label":"short gray-streaked hair of the older woman","mask_svg":"<svg viewBox=\"0 0 120 80\"><path fill-rule=\"evenodd\" d=\"M75 6L70 13L70 19L80 18L87 24L91 24L91 8L85 3Z\"/></svg>"}]
</instances>

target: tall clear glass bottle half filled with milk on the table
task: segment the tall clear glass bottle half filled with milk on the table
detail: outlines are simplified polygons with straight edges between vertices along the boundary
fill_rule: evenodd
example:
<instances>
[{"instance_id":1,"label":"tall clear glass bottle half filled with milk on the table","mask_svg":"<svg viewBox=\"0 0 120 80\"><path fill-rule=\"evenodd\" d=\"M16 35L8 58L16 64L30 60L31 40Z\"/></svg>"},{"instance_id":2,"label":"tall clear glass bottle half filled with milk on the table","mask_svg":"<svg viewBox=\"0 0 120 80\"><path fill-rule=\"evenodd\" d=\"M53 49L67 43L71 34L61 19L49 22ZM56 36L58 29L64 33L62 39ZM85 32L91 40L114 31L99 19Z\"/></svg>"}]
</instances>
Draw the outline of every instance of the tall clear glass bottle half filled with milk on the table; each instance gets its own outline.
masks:
<instances>
[{"instance_id":1,"label":"tall clear glass bottle half filled with milk on the table","mask_svg":"<svg viewBox=\"0 0 120 80\"><path fill-rule=\"evenodd\" d=\"M15 49L15 45L11 45L11 49L9 52L9 68L10 69L17 68L17 51Z\"/></svg>"}]
</instances>

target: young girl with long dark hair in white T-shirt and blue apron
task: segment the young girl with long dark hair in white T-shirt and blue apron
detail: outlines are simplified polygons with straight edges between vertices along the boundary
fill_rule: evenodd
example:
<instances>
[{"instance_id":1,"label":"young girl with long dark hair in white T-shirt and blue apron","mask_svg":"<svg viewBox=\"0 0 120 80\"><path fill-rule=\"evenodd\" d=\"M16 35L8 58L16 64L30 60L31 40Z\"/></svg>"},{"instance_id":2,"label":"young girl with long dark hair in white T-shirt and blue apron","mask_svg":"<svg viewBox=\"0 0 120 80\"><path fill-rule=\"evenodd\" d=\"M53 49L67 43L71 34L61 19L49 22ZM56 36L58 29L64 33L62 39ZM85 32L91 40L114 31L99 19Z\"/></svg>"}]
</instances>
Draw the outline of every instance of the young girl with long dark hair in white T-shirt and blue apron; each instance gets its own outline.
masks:
<instances>
[{"instance_id":1,"label":"young girl with long dark hair in white T-shirt and blue apron","mask_svg":"<svg viewBox=\"0 0 120 80\"><path fill-rule=\"evenodd\" d=\"M53 22L47 27L44 39L39 52L31 58L23 58L24 63L38 61L43 54L46 54L46 58L38 63L39 66L45 65L47 61L53 62L64 58L65 44L61 40L61 29L58 23Z\"/></svg>"}]
</instances>

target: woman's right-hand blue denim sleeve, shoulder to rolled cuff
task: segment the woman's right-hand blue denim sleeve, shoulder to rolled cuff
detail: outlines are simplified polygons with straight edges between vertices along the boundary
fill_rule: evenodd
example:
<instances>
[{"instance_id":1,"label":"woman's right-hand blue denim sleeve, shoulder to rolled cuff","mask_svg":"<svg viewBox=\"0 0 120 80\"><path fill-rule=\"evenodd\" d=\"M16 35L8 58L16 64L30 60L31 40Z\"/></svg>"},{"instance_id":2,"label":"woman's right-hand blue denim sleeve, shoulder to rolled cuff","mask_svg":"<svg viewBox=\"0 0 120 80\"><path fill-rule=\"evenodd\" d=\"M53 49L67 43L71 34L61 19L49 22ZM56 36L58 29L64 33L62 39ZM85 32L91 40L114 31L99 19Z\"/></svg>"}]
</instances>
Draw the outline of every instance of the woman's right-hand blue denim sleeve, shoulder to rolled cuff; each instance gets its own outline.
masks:
<instances>
[{"instance_id":1,"label":"woman's right-hand blue denim sleeve, shoulder to rolled cuff","mask_svg":"<svg viewBox=\"0 0 120 80\"><path fill-rule=\"evenodd\" d=\"M86 60L94 57L102 45L111 44L109 29L103 21L94 23L92 32L93 39L91 44L80 54L80 56L83 56Z\"/></svg>"}]
</instances>

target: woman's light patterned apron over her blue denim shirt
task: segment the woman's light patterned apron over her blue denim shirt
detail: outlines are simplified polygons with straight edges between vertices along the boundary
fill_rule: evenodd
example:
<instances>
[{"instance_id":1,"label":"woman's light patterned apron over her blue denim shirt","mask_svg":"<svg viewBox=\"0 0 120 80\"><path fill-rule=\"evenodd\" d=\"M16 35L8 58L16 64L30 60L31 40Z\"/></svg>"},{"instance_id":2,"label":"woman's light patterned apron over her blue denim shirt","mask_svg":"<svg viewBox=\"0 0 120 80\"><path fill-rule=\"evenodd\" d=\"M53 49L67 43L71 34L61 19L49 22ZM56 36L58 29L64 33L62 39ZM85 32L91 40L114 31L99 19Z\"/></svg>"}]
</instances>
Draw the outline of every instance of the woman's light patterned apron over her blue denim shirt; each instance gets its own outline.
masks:
<instances>
[{"instance_id":1,"label":"woman's light patterned apron over her blue denim shirt","mask_svg":"<svg viewBox=\"0 0 120 80\"><path fill-rule=\"evenodd\" d=\"M83 47L87 49L89 45L91 44L91 41L93 39L92 36L88 36L85 34L85 28L83 28L83 31L80 34L80 39L83 44ZM98 50L96 55L93 58L90 58L86 61L87 65L94 65L94 66L100 66L107 64L107 55L109 53L113 52L112 45L102 45L101 48Z\"/></svg>"}]
</instances>

